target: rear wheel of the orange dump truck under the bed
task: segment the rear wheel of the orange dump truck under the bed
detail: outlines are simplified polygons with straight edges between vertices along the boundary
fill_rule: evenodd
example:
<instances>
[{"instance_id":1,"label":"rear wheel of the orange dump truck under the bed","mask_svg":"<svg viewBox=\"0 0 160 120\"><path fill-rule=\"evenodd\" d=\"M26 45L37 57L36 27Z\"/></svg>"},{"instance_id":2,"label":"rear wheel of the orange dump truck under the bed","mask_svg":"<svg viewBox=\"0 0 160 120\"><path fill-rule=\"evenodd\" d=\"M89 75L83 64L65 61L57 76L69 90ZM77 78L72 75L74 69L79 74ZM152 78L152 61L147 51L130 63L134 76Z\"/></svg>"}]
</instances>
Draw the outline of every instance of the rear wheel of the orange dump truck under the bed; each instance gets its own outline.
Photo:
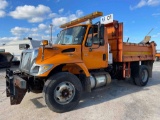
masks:
<instances>
[{"instance_id":1,"label":"rear wheel of the orange dump truck under the bed","mask_svg":"<svg viewBox=\"0 0 160 120\"><path fill-rule=\"evenodd\" d=\"M149 79L149 70L147 66L139 66L139 72L134 76L134 82L138 86L145 86L148 83Z\"/></svg>"}]
</instances>

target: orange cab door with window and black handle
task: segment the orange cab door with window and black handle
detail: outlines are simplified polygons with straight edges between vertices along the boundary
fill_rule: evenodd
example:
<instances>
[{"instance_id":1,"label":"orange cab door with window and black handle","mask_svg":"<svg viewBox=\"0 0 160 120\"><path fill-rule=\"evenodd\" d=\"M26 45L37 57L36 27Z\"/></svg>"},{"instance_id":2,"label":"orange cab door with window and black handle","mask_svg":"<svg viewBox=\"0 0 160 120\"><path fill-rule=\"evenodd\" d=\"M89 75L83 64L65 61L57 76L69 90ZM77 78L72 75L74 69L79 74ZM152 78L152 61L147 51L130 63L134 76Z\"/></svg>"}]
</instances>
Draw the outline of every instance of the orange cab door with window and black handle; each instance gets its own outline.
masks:
<instances>
[{"instance_id":1,"label":"orange cab door with window and black handle","mask_svg":"<svg viewBox=\"0 0 160 120\"><path fill-rule=\"evenodd\" d=\"M92 43L92 45L87 45ZM98 26L91 26L87 38L82 46L82 59L88 69L105 68L108 65L108 52L105 42L99 44Z\"/></svg>"}]
</instances>

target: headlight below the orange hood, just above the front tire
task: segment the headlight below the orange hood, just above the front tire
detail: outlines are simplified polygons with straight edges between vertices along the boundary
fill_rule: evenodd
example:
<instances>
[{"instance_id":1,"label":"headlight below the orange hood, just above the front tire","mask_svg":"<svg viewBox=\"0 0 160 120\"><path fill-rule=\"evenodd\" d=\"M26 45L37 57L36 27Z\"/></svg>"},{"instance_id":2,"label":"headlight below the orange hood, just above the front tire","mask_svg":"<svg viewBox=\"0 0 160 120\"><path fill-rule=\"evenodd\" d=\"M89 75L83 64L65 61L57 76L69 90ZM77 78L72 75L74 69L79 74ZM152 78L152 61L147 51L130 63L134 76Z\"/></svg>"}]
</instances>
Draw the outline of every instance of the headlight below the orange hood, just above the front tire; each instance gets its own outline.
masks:
<instances>
[{"instance_id":1,"label":"headlight below the orange hood, just above the front tire","mask_svg":"<svg viewBox=\"0 0 160 120\"><path fill-rule=\"evenodd\" d=\"M34 63L33 66L31 67L30 74L34 76L40 75L40 74L47 72L52 67L53 67L53 64L38 65Z\"/></svg>"}]
</instances>

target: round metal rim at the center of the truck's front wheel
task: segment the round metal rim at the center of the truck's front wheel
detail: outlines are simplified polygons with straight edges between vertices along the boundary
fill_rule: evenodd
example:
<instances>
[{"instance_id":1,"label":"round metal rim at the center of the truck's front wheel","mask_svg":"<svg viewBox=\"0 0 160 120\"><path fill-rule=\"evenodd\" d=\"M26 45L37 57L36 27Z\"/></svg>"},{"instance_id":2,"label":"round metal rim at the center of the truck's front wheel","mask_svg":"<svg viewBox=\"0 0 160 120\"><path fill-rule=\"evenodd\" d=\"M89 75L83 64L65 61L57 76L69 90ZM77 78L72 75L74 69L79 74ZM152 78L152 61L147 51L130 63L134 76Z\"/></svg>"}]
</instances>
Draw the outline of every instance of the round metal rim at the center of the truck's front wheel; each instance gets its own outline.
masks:
<instances>
[{"instance_id":1,"label":"round metal rim at the center of the truck's front wheel","mask_svg":"<svg viewBox=\"0 0 160 120\"><path fill-rule=\"evenodd\" d=\"M59 104L68 104L75 96L75 87L72 83L65 81L58 84L54 90L54 99Z\"/></svg>"}]
</instances>

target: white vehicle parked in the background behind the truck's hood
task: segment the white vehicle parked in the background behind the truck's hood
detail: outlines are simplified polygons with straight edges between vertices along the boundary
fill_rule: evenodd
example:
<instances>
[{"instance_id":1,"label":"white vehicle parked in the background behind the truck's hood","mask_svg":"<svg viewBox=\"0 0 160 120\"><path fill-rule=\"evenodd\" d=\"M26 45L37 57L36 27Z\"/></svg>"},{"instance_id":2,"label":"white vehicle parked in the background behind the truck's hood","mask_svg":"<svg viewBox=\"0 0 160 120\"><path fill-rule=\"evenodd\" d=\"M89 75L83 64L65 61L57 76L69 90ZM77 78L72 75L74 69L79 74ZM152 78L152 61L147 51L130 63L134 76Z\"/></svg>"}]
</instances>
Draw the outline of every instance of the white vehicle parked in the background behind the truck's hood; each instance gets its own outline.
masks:
<instances>
[{"instance_id":1,"label":"white vehicle parked in the background behind the truck's hood","mask_svg":"<svg viewBox=\"0 0 160 120\"><path fill-rule=\"evenodd\" d=\"M32 38L24 39L24 40L14 40L3 44L0 46L0 50L5 52L9 52L13 55L12 62L19 62L21 52L23 49L20 49L20 45L29 45L29 49L37 48L40 46L41 41L32 40Z\"/></svg>"}]
</instances>

